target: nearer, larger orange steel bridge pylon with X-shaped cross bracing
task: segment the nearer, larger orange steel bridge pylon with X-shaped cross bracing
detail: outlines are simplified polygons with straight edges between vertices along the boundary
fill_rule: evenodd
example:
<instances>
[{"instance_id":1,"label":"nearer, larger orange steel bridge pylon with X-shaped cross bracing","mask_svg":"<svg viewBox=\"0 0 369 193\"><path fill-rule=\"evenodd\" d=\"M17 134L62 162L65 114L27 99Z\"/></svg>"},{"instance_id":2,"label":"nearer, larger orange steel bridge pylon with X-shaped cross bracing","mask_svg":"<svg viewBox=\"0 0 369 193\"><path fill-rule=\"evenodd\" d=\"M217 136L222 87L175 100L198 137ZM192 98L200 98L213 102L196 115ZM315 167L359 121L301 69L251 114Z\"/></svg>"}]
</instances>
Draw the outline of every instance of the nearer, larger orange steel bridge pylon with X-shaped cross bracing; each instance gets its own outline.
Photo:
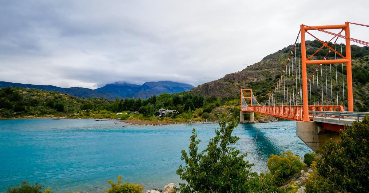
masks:
<instances>
[{"instance_id":1,"label":"nearer, larger orange steel bridge pylon with X-shaped cross bracing","mask_svg":"<svg viewBox=\"0 0 369 193\"><path fill-rule=\"evenodd\" d=\"M322 42L317 37L311 35L308 31L310 30L318 30L318 31L324 31L325 29L342 29L342 31L345 31L345 37L346 37L346 56L342 56L337 51L335 51L332 47L328 46L329 42ZM328 47L330 50L338 53L342 59L339 60L309 60L312 56L309 58L306 58L306 44L305 44L305 33L310 34L315 39L320 41L323 47ZM335 33L334 33L335 34ZM339 34L335 34L336 36L339 36ZM320 50L319 49L319 50ZM307 72L306 72L306 65L311 64L337 64L337 63L343 63L346 64L346 76L347 76L347 95L348 95L348 111L354 111L354 101L352 97L352 72L351 72L351 45L350 45L350 26L349 22L345 22L344 25L321 25L321 26L307 26L307 25L301 25L301 61L302 61L302 85L303 85L303 117L302 121L310 121L309 113L308 113L308 100L307 100Z\"/></svg>"}]
</instances>

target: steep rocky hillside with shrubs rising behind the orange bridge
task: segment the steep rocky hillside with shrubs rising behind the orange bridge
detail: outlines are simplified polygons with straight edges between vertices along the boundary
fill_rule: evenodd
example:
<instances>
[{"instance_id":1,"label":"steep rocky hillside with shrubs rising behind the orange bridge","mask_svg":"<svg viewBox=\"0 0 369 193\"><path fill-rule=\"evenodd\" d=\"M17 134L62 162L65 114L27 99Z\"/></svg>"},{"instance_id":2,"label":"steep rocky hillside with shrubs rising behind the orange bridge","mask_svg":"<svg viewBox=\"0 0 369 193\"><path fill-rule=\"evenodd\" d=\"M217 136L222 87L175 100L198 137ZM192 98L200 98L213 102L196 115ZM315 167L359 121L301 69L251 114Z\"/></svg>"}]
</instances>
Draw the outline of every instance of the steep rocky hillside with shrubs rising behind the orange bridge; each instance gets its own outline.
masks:
<instances>
[{"instance_id":1,"label":"steep rocky hillside with shrubs rising behind the orange bridge","mask_svg":"<svg viewBox=\"0 0 369 193\"><path fill-rule=\"evenodd\" d=\"M332 43L329 43L332 46ZM298 45L297 45L298 46ZM306 41L307 56L313 54L319 49L321 43L318 41ZM340 44L337 44L337 47ZM273 54L264 57L260 62L250 65L244 71L227 74L216 81L204 83L191 92L202 96L217 97L222 100L227 98L239 98L240 89L252 88L259 103L265 102L270 96L272 90L286 65L292 45L285 47ZM345 53L345 45L342 44L342 51ZM323 60L327 48L320 50L313 60ZM352 79L354 87L354 111L369 110L369 47L351 46L352 52ZM344 54L345 56L345 54ZM315 65L309 65L307 69L308 77L315 70ZM346 79L346 67L343 67L344 78ZM338 77L342 77L342 66L337 65ZM338 85L342 85L342 80L338 80ZM328 88L328 93L330 93ZM324 91L326 92L326 91ZM339 96L342 101L342 96Z\"/></svg>"}]
</instances>

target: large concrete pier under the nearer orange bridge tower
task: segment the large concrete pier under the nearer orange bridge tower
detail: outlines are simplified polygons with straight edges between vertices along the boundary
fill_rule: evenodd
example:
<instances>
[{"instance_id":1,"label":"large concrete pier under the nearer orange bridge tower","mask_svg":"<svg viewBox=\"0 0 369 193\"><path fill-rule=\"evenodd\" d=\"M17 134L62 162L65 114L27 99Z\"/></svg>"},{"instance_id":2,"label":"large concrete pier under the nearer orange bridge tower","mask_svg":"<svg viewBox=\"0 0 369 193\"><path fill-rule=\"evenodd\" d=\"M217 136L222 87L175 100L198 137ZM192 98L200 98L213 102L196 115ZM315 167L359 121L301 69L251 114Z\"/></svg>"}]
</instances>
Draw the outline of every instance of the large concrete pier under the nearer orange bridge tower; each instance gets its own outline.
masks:
<instances>
[{"instance_id":1,"label":"large concrete pier under the nearer orange bridge tower","mask_svg":"<svg viewBox=\"0 0 369 193\"><path fill-rule=\"evenodd\" d=\"M297 121L296 135L313 151L330 140L339 140L339 132L323 129L321 124L315 121Z\"/></svg>"}]
</instances>

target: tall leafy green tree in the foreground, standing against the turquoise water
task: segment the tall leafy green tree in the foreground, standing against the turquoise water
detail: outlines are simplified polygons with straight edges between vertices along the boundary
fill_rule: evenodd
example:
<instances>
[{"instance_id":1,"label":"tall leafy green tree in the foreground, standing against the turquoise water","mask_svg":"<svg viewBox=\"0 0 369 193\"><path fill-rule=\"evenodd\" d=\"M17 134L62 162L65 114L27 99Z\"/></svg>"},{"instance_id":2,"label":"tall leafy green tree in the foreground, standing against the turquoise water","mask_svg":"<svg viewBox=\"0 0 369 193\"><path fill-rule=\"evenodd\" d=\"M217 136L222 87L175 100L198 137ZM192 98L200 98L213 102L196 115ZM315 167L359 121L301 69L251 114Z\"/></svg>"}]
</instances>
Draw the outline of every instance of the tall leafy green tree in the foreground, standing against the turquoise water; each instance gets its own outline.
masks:
<instances>
[{"instance_id":1,"label":"tall leafy green tree in the foreground, standing against the turquoise water","mask_svg":"<svg viewBox=\"0 0 369 193\"><path fill-rule=\"evenodd\" d=\"M179 165L176 172L187 182L179 183L181 193L251 192L248 190L254 188L250 187L249 182L257 174L250 171L253 164L244 160L247 154L240 154L239 150L229 147L239 140L237 136L231 135L237 122L233 120L226 125L223 120L219 125L220 130L215 130L215 137L210 139L206 149L200 153L200 139L196 139L196 129L193 129L189 153L182 150L181 159L185 165Z\"/></svg>"}]
</instances>

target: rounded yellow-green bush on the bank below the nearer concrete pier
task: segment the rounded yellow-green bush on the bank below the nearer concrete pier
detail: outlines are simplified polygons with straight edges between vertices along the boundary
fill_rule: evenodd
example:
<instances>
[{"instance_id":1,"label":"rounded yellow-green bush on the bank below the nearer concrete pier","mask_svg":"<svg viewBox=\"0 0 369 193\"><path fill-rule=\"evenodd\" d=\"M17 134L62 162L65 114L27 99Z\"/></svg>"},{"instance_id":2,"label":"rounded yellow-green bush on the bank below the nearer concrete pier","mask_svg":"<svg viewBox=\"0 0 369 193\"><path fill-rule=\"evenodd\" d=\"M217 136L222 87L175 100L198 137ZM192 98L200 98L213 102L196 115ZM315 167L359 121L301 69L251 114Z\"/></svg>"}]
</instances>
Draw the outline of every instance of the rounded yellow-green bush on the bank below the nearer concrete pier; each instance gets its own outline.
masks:
<instances>
[{"instance_id":1,"label":"rounded yellow-green bush on the bank below the nearer concrete pier","mask_svg":"<svg viewBox=\"0 0 369 193\"><path fill-rule=\"evenodd\" d=\"M275 175L278 185L282 185L285 179L300 172L304 166L300 157L295 156L291 151L283 152L280 156L271 154L268 159L268 168Z\"/></svg>"}]
</instances>

